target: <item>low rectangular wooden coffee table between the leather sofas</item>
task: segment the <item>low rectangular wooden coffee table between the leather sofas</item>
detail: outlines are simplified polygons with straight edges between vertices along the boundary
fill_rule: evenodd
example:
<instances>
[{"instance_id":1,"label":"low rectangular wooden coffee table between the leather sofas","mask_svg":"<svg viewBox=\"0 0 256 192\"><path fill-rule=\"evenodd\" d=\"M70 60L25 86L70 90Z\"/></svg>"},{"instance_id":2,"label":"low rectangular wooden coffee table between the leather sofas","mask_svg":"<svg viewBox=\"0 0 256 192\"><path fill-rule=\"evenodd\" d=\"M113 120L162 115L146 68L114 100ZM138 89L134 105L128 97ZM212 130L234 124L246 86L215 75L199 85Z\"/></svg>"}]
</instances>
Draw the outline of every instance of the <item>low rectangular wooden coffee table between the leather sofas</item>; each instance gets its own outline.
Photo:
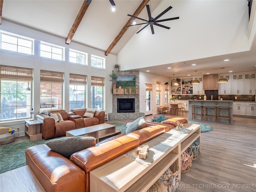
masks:
<instances>
[{"instance_id":1,"label":"low rectangular wooden coffee table between the leather sofas","mask_svg":"<svg viewBox=\"0 0 256 192\"><path fill-rule=\"evenodd\" d=\"M96 143L100 138L118 134L121 134L121 131L117 130L116 126L107 123L66 131L66 137L90 136L96 138Z\"/></svg>"}]
</instances>

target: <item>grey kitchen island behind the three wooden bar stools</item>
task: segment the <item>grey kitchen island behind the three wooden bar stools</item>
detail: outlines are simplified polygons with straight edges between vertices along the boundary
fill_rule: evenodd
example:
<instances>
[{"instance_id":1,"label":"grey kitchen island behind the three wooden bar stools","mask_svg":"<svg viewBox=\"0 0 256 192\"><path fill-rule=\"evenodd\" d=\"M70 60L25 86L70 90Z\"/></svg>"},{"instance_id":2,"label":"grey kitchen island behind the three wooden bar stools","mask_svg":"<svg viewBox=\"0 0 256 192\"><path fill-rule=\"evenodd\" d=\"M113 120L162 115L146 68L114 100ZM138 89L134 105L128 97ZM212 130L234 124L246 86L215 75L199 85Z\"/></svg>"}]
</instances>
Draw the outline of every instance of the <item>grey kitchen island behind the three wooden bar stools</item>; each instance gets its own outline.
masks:
<instances>
[{"instance_id":1,"label":"grey kitchen island behind the three wooden bar stools","mask_svg":"<svg viewBox=\"0 0 256 192\"><path fill-rule=\"evenodd\" d=\"M233 122L233 100L188 100L188 118L192 118L192 106L203 106L203 113L205 106L217 107L230 107L230 122ZM200 114L200 108L195 108L195 113ZM220 108L221 116L228 116L228 110ZM217 113L217 112L216 112ZM214 115L214 110L208 110L208 115ZM218 114L216 114L218 117ZM197 120L201 120L200 117L194 117ZM207 120L214 120L213 118L207 118ZM220 119L220 122L228 122L227 119Z\"/></svg>"}]
</instances>

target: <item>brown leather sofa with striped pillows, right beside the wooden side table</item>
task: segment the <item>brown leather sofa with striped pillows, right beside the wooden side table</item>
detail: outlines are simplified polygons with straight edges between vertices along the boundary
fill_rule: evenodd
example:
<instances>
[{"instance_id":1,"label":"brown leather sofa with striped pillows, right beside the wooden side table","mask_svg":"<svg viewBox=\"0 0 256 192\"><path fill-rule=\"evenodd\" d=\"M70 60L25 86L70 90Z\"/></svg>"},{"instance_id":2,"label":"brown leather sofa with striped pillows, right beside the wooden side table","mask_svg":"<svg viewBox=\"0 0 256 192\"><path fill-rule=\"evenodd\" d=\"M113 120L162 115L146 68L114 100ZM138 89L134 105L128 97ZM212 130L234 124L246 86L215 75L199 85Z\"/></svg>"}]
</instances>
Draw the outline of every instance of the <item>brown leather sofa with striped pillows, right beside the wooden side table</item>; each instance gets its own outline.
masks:
<instances>
[{"instance_id":1,"label":"brown leather sofa with striped pillows, right beside the wooden side table","mask_svg":"<svg viewBox=\"0 0 256 192\"><path fill-rule=\"evenodd\" d=\"M67 113L66 110L56 109L48 110L48 112L60 113L64 121L55 123L54 118L46 114L36 114L36 119L42 122L40 124L40 132L44 139L66 136L66 131L76 129L76 123L68 119L72 114Z\"/></svg>"}]
</instances>

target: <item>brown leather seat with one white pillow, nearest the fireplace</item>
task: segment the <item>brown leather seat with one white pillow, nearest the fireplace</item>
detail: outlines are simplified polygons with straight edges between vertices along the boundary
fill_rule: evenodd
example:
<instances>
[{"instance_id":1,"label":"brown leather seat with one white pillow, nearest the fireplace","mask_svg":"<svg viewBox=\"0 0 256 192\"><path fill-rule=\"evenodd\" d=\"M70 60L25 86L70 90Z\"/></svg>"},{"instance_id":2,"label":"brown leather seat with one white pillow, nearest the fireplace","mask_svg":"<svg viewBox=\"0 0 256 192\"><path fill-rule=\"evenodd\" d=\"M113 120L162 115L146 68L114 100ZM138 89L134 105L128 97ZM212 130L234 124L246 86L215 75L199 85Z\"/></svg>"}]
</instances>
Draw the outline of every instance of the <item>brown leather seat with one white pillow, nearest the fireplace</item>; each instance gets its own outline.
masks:
<instances>
[{"instance_id":1,"label":"brown leather seat with one white pillow, nearest the fireplace","mask_svg":"<svg viewBox=\"0 0 256 192\"><path fill-rule=\"evenodd\" d=\"M102 124L105 122L105 112L96 111L93 117L84 117L86 108L72 109L69 119L76 123L76 129Z\"/></svg>"}]
</instances>

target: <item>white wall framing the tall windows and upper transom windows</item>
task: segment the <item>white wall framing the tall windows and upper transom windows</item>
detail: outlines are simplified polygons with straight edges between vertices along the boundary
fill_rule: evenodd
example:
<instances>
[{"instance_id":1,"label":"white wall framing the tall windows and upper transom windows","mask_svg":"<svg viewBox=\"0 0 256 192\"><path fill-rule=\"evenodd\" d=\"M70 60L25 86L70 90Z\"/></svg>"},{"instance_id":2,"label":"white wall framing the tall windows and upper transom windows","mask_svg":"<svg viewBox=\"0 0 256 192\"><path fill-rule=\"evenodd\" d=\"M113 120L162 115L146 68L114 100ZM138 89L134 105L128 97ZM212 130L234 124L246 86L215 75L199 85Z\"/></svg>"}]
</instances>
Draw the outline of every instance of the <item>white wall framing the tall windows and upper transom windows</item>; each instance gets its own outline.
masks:
<instances>
[{"instance_id":1,"label":"white wall framing the tall windows and upper transom windows","mask_svg":"<svg viewBox=\"0 0 256 192\"><path fill-rule=\"evenodd\" d=\"M114 65L116 64L116 56L108 54L105 56L103 51L84 46L82 44L71 42L69 45L65 44L65 39L45 34L24 26L13 24L2 20L1 30L12 32L14 34L19 34L29 38L35 39L35 54L21 54L8 50L0 50L0 64L7 66L19 66L24 68L34 69L34 79L33 79L33 107L35 114L40 110L40 70L50 70L57 72L64 72L64 103L63 107L66 111L69 111L69 100L65 99L69 96L69 73L83 74L88 78L87 83L87 94L86 94L86 107L90 107L91 100L91 76L99 76L105 78L105 89L106 98L104 100L104 109L106 112L112 112L112 82L110 82L109 74L114 70ZM65 51L65 61L52 60L48 58L40 57L40 41L49 42L66 48ZM68 53L69 48L74 50L79 50L88 53L89 63L88 66L82 66L80 64L70 64ZM91 54L106 58L106 69L97 69L90 66ZM111 101L111 102L110 102ZM11 128L19 128L19 136L24 135L24 120L15 122L1 123L1 126L8 126ZM15 136L18 136L15 133Z\"/></svg>"}]
</instances>

